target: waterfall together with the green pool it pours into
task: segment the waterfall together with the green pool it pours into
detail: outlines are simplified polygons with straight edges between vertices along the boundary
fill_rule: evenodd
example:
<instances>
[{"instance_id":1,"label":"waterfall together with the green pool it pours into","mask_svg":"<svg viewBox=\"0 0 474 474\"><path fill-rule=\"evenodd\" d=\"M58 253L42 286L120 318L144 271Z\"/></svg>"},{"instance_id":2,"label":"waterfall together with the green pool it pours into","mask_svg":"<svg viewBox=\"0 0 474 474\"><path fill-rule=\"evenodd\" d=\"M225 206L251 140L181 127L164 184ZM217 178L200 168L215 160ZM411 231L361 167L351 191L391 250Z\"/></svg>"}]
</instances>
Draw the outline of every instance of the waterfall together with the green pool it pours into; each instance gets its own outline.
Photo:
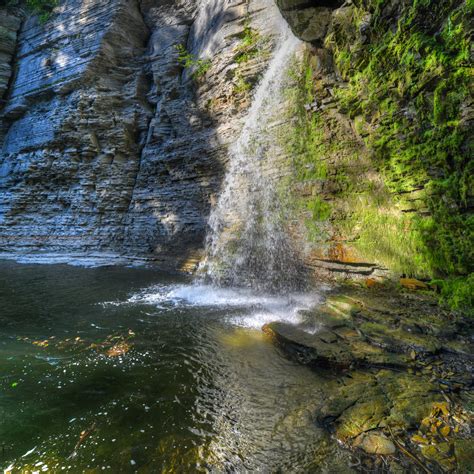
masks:
<instances>
[{"instance_id":1,"label":"waterfall together with the green pool it pours into","mask_svg":"<svg viewBox=\"0 0 474 474\"><path fill-rule=\"evenodd\" d=\"M264 172L298 44L282 22L210 218L208 274L230 287L0 262L0 468L347 472L314 421L324 379L261 331L319 301L295 289L298 258Z\"/></svg>"}]
</instances>

